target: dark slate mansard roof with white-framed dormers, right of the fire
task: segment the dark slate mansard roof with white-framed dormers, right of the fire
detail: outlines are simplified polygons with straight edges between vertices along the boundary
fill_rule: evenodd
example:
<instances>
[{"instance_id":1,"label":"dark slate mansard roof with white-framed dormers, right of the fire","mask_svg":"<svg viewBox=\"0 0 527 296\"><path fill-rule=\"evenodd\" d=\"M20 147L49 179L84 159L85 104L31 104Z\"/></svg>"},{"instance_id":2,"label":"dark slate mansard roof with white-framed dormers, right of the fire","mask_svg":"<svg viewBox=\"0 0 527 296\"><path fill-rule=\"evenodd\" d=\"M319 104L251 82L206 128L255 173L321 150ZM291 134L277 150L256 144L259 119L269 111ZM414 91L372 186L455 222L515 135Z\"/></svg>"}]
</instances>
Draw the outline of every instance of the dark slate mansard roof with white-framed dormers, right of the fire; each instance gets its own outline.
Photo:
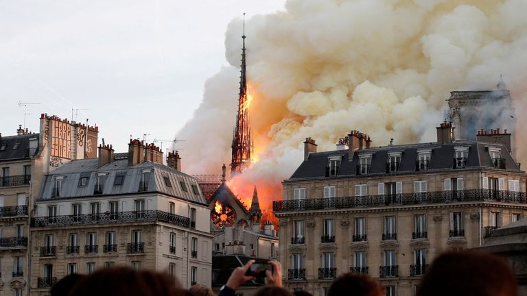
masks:
<instances>
[{"instance_id":1,"label":"dark slate mansard roof with white-framed dormers, right of the fire","mask_svg":"<svg viewBox=\"0 0 527 296\"><path fill-rule=\"evenodd\" d=\"M351 161L349 161L348 150L311 153L307 160L304 160L298 169L296 169L290 177L290 180L326 177L326 167L328 166L330 156L337 156L341 159L338 174L331 177L357 177L357 165L359 164L359 156L361 154L372 155L370 171L367 174L368 176L384 175L386 174L388 153L396 151L401 152L401 162L397 173L415 173L418 151L421 149L432 150L430 164L427 171L448 171L454 168L454 147L460 146L469 147L465 169L495 169L488 147L499 147L501 149L501 156L505 161L506 170L522 172L511 154L508 153L506 147L500 143L458 141L443 144L419 143L361 149L353 153L353 159Z\"/></svg>"}]
</instances>

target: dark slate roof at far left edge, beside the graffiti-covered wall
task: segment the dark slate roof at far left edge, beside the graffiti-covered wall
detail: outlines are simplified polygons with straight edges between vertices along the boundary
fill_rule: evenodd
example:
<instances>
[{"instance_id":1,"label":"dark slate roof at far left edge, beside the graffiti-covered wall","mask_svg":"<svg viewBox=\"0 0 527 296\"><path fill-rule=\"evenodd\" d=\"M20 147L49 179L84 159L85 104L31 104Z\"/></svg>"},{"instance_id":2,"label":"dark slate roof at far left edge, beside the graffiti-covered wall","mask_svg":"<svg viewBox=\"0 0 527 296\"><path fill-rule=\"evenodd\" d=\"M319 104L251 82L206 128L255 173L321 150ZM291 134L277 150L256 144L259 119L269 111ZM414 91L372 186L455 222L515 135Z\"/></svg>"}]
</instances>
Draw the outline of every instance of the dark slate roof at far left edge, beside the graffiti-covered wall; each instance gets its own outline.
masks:
<instances>
[{"instance_id":1,"label":"dark slate roof at far left edge, beside the graffiti-covered wall","mask_svg":"<svg viewBox=\"0 0 527 296\"><path fill-rule=\"evenodd\" d=\"M39 134L0 136L0 161L30 158L30 138L36 138L37 147L34 152L36 155L38 153L38 136Z\"/></svg>"}]
</instances>

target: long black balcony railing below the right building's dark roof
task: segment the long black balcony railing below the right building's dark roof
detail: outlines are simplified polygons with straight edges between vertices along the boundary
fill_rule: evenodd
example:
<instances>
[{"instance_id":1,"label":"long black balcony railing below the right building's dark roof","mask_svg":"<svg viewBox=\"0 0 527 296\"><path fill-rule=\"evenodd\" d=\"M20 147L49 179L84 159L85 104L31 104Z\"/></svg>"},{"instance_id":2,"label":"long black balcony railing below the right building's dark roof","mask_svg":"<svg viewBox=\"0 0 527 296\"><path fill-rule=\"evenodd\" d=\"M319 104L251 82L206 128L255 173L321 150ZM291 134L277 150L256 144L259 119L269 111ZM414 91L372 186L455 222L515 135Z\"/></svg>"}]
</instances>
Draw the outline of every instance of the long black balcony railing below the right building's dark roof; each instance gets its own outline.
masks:
<instances>
[{"instance_id":1,"label":"long black balcony railing below the right building's dark roof","mask_svg":"<svg viewBox=\"0 0 527 296\"><path fill-rule=\"evenodd\" d=\"M511 204L527 204L526 193L507 190L469 189L431 191L426 193L398 193L396 195L366 195L358 197L325 197L273 201L274 212L324 210L339 208L370 208L406 206L416 204L443 204L472 201L498 201Z\"/></svg>"}]
</instances>

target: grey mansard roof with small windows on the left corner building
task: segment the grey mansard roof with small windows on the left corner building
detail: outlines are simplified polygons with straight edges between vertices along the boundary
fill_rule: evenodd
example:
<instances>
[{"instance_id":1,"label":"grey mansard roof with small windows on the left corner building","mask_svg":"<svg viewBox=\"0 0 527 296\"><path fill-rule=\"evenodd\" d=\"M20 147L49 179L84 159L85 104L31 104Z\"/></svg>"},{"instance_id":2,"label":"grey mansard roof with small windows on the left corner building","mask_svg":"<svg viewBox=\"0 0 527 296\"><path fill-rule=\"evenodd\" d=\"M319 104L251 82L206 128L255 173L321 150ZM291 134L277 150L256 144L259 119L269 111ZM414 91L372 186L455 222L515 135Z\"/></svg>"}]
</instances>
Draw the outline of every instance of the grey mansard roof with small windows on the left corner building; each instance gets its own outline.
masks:
<instances>
[{"instance_id":1,"label":"grey mansard roof with small windows on the left corner building","mask_svg":"<svg viewBox=\"0 0 527 296\"><path fill-rule=\"evenodd\" d=\"M119 159L102 167L98 167L98 162L99 160L97 158L73 160L45 175L39 199L54 198L52 197L52 193L54 191L55 179L57 176L64 176L61 188L62 197L93 197L98 173L106 173L107 175L106 181L104 182L103 192L101 195L97 196L138 193L143 170L152 169L153 173L149 180L148 190L145 192L164 193L166 195L207 205L207 201L205 201L201 194L198 182L196 182L194 177L163 164L146 161L128 167L127 159ZM114 184L117 175L124 175L121 185ZM80 179L82 177L88 178L86 186L80 186ZM170 186L167 186L165 183L165 177L167 177ZM185 184L186 190L183 189L182 184ZM196 186L198 194L194 193L193 186Z\"/></svg>"}]
</instances>

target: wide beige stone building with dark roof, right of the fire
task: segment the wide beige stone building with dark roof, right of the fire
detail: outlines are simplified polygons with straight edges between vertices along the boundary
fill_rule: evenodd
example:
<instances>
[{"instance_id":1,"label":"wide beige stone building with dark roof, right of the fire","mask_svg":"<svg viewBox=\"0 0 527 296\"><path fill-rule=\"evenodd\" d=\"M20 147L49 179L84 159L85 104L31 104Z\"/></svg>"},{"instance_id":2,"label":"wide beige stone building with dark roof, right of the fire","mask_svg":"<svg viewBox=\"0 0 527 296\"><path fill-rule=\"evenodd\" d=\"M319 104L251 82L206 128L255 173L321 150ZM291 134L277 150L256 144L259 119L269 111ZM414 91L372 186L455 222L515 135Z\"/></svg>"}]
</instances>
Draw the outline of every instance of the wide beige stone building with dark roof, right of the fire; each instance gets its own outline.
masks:
<instances>
[{"instance_id":1,"label":"wide beige stone building with dark roof, right of the fire","mask_svg":"<svg viewBox=\"0 0 527 296\"><path fill-rule=\"evenodd\" d=\"M511 134L455 141L449 123L437 134L436 143L374 148L352 131L325 152L306 139L305 160L273 204L289 288L325 295L352 271L378 278L386 295L414 295L438 254L478 247L524 218L526 174L511 156Z\"/></svg>"}]
</instances>

